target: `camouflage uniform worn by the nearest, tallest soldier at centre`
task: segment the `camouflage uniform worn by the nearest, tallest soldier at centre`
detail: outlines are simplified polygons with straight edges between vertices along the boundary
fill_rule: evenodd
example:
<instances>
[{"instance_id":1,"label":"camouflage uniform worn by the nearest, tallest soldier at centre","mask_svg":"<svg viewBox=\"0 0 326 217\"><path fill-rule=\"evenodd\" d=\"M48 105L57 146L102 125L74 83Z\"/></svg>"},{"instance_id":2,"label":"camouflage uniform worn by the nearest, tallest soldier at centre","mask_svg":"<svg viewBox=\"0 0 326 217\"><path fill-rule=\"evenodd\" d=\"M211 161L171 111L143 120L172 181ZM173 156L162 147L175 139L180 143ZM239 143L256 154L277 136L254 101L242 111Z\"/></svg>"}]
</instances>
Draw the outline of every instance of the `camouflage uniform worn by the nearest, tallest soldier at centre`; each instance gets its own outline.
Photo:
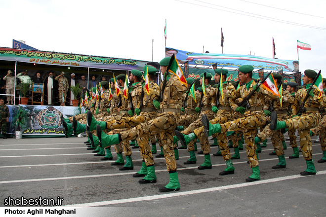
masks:
<instances>
[{"instance_id":1,"label":"camouflage uniform worn by the nearest, tallest soldier at centre","mask_svg":"<svg viewBox=\"0 0 326 217\"><path fill-rule=\"evenodd\" d=\"M169 72L165 72L169 73ZM162 85L160 86L162 89ZM148 135L160 134L163 144L163 152L167 170L176 171L176 160L173 151L174 129L180 119L180 109L182 108L182 94L187 90L185 84L179 81L174 74L166 81L166 87L163 93L163 101L160 109L162 113L158 114L155 119L121 133L122 141L135 140Z\"/></svg>"}]
</instances>

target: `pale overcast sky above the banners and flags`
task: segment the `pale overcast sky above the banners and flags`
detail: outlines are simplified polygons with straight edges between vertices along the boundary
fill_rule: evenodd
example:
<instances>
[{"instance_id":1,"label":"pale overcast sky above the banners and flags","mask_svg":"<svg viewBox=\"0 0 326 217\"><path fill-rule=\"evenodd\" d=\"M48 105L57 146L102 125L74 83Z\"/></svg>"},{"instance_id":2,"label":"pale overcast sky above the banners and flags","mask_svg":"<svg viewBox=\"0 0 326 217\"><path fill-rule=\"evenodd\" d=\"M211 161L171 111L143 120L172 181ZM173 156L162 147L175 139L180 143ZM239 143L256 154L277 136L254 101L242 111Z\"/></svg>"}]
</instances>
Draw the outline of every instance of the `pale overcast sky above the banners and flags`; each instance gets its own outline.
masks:
<instances>
[{"instance_id":1,"label":"pale overcast sky above the banners and flags","mask_svg":"<svg viewBox=\"0 0 326 217\"><path fill-rule=\"evenodd\" d=\"M0 0L0 46L154 61L166 46L191 52L297 60L326 77L325 0ZM313 15L313 16L311 16ZM276 22L277 21L277 22Z\"/></svg>"}]
</instances>

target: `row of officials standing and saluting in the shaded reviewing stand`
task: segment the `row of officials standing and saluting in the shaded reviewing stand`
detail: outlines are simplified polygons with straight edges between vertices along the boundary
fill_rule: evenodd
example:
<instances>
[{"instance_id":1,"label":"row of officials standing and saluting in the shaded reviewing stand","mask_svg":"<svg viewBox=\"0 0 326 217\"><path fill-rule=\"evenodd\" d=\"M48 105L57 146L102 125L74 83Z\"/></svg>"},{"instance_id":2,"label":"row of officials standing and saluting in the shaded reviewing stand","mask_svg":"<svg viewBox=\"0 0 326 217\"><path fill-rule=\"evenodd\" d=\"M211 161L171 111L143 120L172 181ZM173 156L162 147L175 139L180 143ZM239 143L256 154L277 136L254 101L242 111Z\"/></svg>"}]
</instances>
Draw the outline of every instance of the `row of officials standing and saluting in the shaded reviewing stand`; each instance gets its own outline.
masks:
<instances>
[{"instance_id":1,"label":"row of officials standing and saluting in the shaded reviewing stand","mask_svg":"<svg viewBox=\"0 0 326 217\"><path fill-rule=\"evenodd\" d=\"M20 89L22 84L30 84L29 93L26 97L32 99L32 85L43 85L42 93L34 93L33 101L41 102L42 105L53 105L53 106L72 106L72 100L75 98L80 100L84 97L86 91L93 86L96 86L100 81L107 80L106 76L102 75L89 75L87 82L87 75L66 72L53 72L49 70L48 72L28 72L23 70L16 74L16 89ZM74 96L71 86L76 86L79 84L82 89L78 96ZM14 104L14 71L8 70L2 72L0 76L0 87L1 94L7 94L7 96L2 96L2 99L7 100L7 105ZM18 87L18 88L17 88ZM16 99L15 104L19 102Z\"/></svg>"}]
</instances>

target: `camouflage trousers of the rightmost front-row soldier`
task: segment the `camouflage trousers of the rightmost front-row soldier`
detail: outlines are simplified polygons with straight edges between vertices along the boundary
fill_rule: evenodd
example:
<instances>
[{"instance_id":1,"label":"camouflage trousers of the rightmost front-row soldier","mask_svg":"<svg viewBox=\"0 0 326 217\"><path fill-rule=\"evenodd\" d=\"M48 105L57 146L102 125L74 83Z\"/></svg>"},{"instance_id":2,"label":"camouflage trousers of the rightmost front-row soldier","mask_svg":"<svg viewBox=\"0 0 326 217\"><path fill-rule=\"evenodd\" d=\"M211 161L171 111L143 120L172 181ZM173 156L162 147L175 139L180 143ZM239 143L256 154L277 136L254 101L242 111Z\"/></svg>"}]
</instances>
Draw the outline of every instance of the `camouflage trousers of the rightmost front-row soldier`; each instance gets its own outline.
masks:
<instances>
[{"instance_id":1,"label":"camouflage trousers of the rightmost front-row soldier","mask_svg":"<svg viewBox=\"0 0 326 217\"><path fill-rule=\"evenodd\" d=\"M318 111L308 111L301 116L285 120L286 128L298 130L300 135L300 147L305 160L312 159L312 143L310 129L318 126L321 115Z\"/></svg>"}]
</instances>

